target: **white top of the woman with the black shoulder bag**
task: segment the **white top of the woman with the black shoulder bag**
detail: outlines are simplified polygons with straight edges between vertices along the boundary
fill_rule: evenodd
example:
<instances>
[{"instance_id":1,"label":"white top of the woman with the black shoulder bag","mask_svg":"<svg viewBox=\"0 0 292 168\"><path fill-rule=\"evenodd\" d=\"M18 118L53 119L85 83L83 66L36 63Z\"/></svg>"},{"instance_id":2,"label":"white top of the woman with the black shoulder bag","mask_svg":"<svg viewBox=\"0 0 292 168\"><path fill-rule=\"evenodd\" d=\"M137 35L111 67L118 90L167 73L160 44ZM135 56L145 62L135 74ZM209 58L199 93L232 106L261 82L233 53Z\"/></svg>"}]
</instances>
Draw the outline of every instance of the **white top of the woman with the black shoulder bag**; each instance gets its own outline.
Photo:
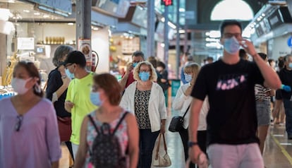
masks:
<instances>
[{"instance_id":1,"label":"white top of the woman with the black shoulder bag","mask_svg":"<svg viewBox=\"0 0 292 168\"><path fill-rule=\"evenodd\" d=\"M178 92L176 92L176 97L172 101L172 108L175 110L179 110L181 116L183 116L186 109L188 109L188 106L193 100L193 97L185 96L184 94L185 90L187 90L189 86L190 86L190 83L181 85L181 87L178 88ZM202 104L202 109L200 111L199 125L197 126L197 131L207 130L206 116L207 116L208 111L209 111L209 102L208 102L208 98L206 97ZM190 109L188 109L187 114L185 114L183 128L188 128L189 123L190 123Z\"/></svg>"}]
</instances>

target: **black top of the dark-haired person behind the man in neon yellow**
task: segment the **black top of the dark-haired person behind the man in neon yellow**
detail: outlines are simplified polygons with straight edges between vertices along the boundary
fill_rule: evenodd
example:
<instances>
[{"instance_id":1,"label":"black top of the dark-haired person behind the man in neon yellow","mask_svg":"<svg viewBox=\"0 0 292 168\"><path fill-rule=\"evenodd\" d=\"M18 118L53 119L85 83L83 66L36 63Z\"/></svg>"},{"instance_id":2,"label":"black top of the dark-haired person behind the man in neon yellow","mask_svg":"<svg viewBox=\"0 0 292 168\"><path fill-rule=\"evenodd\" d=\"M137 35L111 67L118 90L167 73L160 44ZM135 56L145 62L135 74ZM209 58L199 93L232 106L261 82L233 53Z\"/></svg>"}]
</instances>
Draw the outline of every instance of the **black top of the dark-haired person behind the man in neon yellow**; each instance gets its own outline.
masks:
<instances>
[{"instance_id":1,"label":"black top of the dark-haired person behind the man in neon yellow","mask_svg":"<svg viewBox=\"0 0 292 168\"><path fill-rule=\"evenodd\" d=\"M61 79L61 73L58 69L54 69L49 73L49 78L47 81L47 90L46 97L51 100L53 97L53 93L58 90L61 85L63 85L63 81ZM71 113L68 113L64 107L64 103L66 100L67 90L63 92L63 94L58 98L56 102L54 102L54 107L56 109L56 115L60 117L71 116Z\"/></svg>"}]
</instances>

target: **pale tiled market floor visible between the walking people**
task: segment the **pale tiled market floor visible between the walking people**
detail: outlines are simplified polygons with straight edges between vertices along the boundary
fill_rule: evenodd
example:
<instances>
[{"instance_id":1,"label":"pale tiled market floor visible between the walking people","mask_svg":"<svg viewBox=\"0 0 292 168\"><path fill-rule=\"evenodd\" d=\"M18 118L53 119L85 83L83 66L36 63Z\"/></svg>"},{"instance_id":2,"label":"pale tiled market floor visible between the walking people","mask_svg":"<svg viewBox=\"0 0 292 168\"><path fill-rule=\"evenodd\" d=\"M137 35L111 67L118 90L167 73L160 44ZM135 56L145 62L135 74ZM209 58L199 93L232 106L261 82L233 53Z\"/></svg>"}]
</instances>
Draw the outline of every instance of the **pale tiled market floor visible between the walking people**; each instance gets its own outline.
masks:
<instances>
[{"instance_id":1,"label":"pale tiled market floor visible between the walking people","mask_svg":"<svg viewBox=\"0 0 292 168\"><path fill-rule=\"evenodd\" d=\"M176 114L176 112L173 112ZM169 119L171 117L169 116ZM169 121L169 120L168 120ZM183 145L178 133L166 133L166 143L171 157L170 168L183 168ZM68 168L68 150L62 145L62 158L60 168ZM292 140L287 140L285 126L271 126L264 150L264 164L267 168L291 168L292 167Z\"/></svg>"}]
</instances>

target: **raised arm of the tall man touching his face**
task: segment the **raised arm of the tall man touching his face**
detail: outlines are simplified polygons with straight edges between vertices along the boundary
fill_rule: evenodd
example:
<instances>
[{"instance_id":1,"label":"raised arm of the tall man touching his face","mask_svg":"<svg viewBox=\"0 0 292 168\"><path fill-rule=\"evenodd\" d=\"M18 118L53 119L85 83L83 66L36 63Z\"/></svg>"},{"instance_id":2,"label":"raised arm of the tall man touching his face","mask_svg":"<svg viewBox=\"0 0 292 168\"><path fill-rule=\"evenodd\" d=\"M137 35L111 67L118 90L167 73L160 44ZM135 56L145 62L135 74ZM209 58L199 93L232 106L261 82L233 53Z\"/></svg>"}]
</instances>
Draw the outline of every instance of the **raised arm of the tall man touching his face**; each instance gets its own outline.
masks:
<instances>
[{"instance_id":1,"label":"raised arm of the tall man touching his face","mask_svg":"<svg viewBox=\"0 0 292 168\"><path fill-rule=\"evenodd\" d=\"M253 56L255 64L257 64L258 68L260 68L260 72L264 77L264 86L272 89L281 88L281 80L279 76L276 74L273 68L271 68L271 66L268 66L267 63L260 57L260 55L257 54L252 42L248 40L243 40L241 41L241 46L245 49L246 52L248 52L248 54Z\"/></svg>"}]
</instances>

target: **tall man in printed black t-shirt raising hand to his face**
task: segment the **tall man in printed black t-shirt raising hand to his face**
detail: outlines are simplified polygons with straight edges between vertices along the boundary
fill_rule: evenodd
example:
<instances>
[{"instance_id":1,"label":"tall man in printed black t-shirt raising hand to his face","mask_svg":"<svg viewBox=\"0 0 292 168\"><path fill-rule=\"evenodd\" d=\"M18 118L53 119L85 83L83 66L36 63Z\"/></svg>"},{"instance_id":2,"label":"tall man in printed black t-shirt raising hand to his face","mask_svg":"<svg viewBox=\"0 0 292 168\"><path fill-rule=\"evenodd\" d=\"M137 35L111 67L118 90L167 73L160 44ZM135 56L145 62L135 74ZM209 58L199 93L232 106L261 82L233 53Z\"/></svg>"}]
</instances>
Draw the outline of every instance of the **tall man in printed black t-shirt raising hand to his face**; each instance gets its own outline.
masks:
<instances>
[{"instance_id":1,"label":"tall man in printed black t-shirt raising hand to his face","mask_svg":"<svg viewBox=\"0 0 292 168\"><path fill-rule=\"evenodd\" d=\"M209 162L214 168L264 167L258 139L255 109L255 84L278 89L277 74L241 36L241 23L221 23L222 59L202 67L193 88L189 126L189 155L192 162L204 164L197 145L197 124L205 97L209 98L207 145ZM253 56L254 62L239 57L239 49ZM202 154L203 155L203 154Z\"/></svg>"}]
</instances>

